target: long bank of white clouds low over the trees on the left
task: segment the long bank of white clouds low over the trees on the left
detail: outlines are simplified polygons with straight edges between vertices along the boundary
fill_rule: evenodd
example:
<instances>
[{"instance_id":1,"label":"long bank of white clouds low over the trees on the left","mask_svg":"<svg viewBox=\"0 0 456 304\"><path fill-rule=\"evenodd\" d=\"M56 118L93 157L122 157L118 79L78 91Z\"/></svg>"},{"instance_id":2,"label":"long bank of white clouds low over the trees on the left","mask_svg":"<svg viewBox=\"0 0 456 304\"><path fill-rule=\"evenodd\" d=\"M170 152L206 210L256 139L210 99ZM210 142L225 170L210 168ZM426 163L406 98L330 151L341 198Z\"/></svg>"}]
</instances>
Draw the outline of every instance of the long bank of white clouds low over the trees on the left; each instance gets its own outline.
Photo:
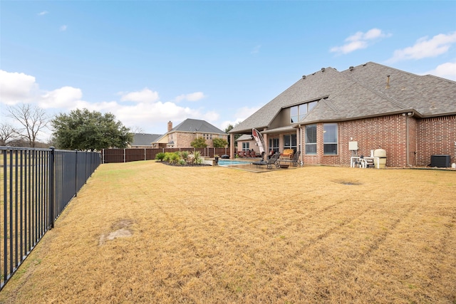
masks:
<instances>
[{"instance_id":1,"label":"long bank of white clouds low over the trees on the left","mask_svg":"<svg viewBox=\"0 0 456 304\"><path fill-rule=\"evenodd\" d=\"M120 100L94 103L82 100L83 92L80 88L64 86L55 90L40 90L36 79L24 73L9 73L0 70L0 85L0 103L2 104L36 103L39 107L46 109L50 116L57 110L69 112L83 108L90 111L111 112L123 125L140 127L145 132L165 133L169 120L180 123L187 118L195 118L207 120L214 125L219 120L219 113L215 111L182 107L175 102L162 102L158 93L148 88L119 93ZM201 92L184 96L187 100L198 100L205 97ZM0 113L0 115L0 119L3 120L4 114Z\"/></svg>"}]
</instances>

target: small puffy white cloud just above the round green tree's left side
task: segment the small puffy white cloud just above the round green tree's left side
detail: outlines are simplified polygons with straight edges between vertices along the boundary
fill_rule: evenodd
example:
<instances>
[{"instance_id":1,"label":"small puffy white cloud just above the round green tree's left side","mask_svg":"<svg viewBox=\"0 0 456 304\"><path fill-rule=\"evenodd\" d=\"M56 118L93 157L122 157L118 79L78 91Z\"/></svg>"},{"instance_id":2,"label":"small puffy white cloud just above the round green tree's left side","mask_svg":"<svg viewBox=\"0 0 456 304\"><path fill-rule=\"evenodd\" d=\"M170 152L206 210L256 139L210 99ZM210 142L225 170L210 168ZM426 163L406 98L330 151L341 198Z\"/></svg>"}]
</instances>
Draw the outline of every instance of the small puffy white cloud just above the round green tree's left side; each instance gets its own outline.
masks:
<instances>
[{"instance_id":1,"label":"small puffy white cloud just above the round green tree's left side","mask_svg":"<svg viewBox=\"0 0 456 304\"><path fill-rule=\"evenodd\" d=\"M81 89L63 87L41 95L38 105L43 108L72 108L75 103L81 100L83 93Z\"/></svg>"}]
</instances>

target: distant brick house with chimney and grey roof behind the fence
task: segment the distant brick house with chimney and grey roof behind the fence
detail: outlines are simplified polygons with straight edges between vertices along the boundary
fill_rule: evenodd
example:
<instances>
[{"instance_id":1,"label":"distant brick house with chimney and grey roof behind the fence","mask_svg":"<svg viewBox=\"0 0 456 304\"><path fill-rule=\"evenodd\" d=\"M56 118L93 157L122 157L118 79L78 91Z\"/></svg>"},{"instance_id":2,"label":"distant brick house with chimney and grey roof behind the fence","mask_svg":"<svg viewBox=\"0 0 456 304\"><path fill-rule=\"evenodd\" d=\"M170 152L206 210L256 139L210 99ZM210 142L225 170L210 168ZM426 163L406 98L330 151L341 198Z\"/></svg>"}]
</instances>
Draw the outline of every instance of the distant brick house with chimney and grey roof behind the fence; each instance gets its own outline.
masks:
<instances>
[{"instance_id":1,"label":"distant brick house with chimney and grey roof behind the fence","mask_svg":"<svg viewBox=\"0 0 456 304\"><path fill-rule=\"evenodd\" d=\"M222 138L228 140L228 134L204 120L188 118L176 127L168 122L168 132L152 143L155 147L188 148L197 137L204 137L207 147L214 147L212 140Z\"/></svg>"}]
</instances>

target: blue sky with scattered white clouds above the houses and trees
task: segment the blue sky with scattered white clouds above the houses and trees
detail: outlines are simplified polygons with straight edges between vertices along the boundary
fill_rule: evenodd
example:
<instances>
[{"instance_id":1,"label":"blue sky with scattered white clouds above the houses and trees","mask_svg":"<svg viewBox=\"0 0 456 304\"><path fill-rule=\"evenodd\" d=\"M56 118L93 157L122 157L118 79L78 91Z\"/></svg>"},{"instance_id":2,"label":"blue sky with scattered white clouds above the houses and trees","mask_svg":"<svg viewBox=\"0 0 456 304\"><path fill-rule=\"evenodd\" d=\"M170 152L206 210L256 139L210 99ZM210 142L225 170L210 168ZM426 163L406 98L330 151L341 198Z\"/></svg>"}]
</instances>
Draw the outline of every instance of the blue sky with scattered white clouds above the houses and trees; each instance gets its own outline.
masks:
<instances>
[{"instance_id":1,"label":"blue sky with scattered white clouds above the houses and trees","mask_svg":"<svg viewBox=\"0 0 456 304\"><path fill-rule=\"evenodd\" d=\"M187 118L225 130L321 68L456 80L455 16L456 1L0 0L0 123L31 103L134 132Z\"/></svg>"}]
</instances>

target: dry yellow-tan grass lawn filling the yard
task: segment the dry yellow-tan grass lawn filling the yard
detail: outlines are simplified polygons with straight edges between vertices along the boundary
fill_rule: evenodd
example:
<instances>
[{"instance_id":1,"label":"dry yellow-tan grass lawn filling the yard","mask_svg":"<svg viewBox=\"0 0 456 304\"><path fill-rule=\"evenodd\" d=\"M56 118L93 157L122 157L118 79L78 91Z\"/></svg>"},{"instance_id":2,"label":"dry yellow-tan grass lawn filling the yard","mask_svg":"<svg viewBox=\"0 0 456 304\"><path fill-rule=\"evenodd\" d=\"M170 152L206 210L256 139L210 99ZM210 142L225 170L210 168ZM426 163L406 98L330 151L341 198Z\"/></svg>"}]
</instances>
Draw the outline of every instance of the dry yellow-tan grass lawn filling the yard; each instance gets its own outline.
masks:
<instances>
[{"instance_id":1,"label":"dry yellow-tan grass lawn filling the yard","mask_svg":"<svg viewBox=\"0 0 456 304\"><path fill-rule=\"evenodd\" d=\"M456 303L456 172L101 165L1 303Z\"/></svg>"}]
</instances>

